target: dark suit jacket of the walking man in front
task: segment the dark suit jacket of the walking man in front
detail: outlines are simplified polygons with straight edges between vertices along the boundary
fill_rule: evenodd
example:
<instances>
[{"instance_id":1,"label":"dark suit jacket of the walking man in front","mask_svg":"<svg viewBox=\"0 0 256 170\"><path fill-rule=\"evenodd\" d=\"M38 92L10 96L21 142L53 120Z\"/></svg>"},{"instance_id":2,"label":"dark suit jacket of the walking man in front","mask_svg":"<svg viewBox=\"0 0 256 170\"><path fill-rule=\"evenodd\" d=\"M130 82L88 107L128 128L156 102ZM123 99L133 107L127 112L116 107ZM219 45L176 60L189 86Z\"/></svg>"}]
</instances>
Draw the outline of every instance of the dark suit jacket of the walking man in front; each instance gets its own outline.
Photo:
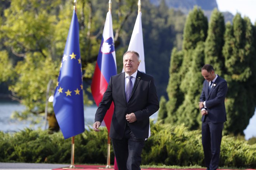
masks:
<instances>
[{"instance_id":1,"label":"dark suit jacket of the walking man in front","mask_svg":"<svg viewBox=\"0 0 256 170\"><path fill-rule=\"evenodd\" d=\"M154 78L138 71L130 100L127 103L125 97L125 73L112 76L96 111L95 122L103 121L112 101L114 102L114 113L109 136L114 139L122 139L128 123L136 138L148 138L149 116L159 109ZM134 112L137 121L129 123L126 121L125 116L132 112Z\"/></svg>"}]
</instances>

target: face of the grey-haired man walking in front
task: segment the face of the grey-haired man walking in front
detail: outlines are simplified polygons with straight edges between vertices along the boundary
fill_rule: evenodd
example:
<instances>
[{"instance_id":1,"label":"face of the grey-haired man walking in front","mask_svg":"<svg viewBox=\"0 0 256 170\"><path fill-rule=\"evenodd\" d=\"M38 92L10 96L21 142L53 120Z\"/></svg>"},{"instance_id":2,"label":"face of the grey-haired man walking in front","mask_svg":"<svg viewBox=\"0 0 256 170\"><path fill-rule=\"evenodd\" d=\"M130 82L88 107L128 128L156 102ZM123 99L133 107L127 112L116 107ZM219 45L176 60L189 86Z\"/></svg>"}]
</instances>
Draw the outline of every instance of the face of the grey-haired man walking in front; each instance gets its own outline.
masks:
<instances>
[{"instance_id":1,"label":"face of the grey-haired man walking in front","mask_svg":"<svg viewBox=\"0 0 256 170\"><path fill-rule=\"evenodd\" d=\"M128 75L132 75L133 73L135 73L135 71L138 70L139 65L140 62L138 61L138 57L136 54L127 53L123 57L123 67L125 73L127 73Z\"/></svg>"}]
</instances>

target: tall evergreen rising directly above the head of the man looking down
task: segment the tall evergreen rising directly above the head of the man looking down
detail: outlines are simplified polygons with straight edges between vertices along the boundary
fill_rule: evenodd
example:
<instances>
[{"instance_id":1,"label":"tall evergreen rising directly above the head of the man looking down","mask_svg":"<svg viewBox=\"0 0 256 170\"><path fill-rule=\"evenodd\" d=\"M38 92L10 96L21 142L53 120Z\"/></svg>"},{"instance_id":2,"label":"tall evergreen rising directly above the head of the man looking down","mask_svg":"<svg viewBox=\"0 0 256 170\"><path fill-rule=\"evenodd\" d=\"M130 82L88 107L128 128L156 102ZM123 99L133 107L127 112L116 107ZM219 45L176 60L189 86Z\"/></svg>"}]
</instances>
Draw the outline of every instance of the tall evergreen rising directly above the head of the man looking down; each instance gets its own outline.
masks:
<instances>
[{"instance_id":1,"label":"tall evergreen rising directly above the head of the man looking down","mask_svg":"<svg viewBox=\"0 0 256 170\"><path fill-rule=\"evenodd\" d=\"M221 12L216 8L211 14L209 22L208 36L205 42L205 63L211 64L218 73L223 76L224 57L222 56L222 47L224 44L225 23Z\"/></svg>"}]
</instances>

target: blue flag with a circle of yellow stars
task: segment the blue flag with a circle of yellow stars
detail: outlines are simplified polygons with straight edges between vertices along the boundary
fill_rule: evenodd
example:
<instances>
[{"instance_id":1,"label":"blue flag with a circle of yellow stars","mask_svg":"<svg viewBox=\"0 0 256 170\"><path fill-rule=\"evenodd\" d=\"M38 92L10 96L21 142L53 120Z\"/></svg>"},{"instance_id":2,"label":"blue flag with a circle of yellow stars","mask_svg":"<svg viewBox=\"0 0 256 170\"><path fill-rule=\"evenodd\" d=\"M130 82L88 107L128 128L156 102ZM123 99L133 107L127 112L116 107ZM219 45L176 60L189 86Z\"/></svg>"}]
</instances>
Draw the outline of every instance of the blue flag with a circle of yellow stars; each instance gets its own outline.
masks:
<instances>
[{"instance_id":1,"label":"blue flag with a circle of yellow stars","mask_svg":"<svg viewBox=\"0 0 256 170\"><path fill-rule=\"evenodd\" d=\"M53 106L65 139L85 131L79 24L75 10L69 27Z\"/></svg>"}]
</instances>

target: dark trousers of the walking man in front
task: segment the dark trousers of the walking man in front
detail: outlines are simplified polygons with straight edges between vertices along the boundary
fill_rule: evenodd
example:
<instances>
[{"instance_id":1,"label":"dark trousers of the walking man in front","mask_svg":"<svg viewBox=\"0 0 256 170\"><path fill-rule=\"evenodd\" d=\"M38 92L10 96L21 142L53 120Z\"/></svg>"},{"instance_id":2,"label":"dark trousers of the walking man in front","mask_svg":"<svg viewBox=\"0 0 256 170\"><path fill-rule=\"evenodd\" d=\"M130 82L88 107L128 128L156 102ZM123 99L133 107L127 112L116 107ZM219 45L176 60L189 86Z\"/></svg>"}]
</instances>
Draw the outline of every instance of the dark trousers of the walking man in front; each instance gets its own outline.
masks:
<instances>
[{"instance_id":1,"label":"dark trousers of the walking man in front","mask_svg":"<svg viewBox=\"0 0 256 170\"><path fill-rule=\"evenodd\" d=\"M126 126L123 139L111 139L118 170L140 170L141 153L145 139L137 139Z\"/></svg>"}]
</instances>

